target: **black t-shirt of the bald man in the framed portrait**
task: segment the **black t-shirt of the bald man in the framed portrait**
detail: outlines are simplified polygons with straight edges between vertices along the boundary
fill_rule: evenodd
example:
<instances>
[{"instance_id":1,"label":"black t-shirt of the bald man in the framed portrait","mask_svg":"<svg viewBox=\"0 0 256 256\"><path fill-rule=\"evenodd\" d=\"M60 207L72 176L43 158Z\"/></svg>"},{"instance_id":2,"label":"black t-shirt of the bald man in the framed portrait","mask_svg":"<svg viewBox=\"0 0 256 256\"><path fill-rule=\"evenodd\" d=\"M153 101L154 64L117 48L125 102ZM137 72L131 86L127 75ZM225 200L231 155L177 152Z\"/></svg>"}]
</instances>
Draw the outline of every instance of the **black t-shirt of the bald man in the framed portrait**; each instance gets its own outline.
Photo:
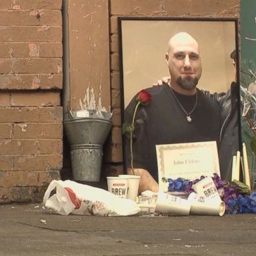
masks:
<instances>
[{"instance_id":1,"label":"black t-shirt of the bald man in the framed portrait","mask_svg":"<svg viewBox=\"0 0 256 256\"><path fill-rule=\"evenodd\" d=\"M177 103L171 88L167 84L146 89L152 95L148 105L140 105L135 120L137 124L133 139L133 167L147 169L158 181L157 155L155 145L188 143L197 141L219 141L220 117L219 106L197 89L197 105L191 113L192 121L187 121L186 114ZM185 110L195 103L194 96L177 95L179 101L190 102ZM125 121L132 122L137 95L125 109ZM129 140L126 141L127 167L131 167Z\"/></svg>"}]
</instances>

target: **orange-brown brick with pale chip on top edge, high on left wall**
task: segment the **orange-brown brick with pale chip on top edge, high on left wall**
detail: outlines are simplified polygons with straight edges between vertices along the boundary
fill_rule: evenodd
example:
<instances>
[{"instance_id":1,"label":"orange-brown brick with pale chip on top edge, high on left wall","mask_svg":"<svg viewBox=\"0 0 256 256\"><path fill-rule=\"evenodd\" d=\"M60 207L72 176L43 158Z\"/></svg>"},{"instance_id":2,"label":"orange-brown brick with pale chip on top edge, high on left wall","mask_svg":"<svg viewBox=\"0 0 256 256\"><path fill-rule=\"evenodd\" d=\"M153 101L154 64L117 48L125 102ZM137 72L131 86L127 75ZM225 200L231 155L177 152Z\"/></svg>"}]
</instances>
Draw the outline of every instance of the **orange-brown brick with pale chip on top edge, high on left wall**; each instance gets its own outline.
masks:
<instances>
[{"instance_id":1,"label":"orange-brown brick with pale chip on top edge, high on left wall","mask_svg":"<svg viewBox=\"0 0 256 256\"><path fill-rule=\"evenodd\" d=\"M12 27L11 41L15 42L61 42L62 27ZM10 40L3 40L10 41Z\"/></svg>"}]
</instances>

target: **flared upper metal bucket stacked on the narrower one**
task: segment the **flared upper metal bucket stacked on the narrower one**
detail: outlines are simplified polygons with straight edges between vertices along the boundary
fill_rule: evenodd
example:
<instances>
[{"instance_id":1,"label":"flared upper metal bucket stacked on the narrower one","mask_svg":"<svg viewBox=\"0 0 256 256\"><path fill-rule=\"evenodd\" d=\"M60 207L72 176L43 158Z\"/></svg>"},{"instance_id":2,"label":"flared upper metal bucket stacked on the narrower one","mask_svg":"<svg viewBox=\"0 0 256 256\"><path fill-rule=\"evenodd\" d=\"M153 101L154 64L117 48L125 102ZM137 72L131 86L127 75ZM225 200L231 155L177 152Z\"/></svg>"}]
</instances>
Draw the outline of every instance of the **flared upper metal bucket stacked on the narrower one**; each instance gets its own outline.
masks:
<instances>
[{"instance_id":1,"label":"flared upper metal bucket stacked on the narrower one","mask_svg":"<svg viewBox=\"0 0 256 256\"><path fill-rule=\"evenodd\" d=\"M111 129L112 122L99 118L76 118L63 121L65 133L70 145L103 145Z\"/></svg>"}]
</instances>

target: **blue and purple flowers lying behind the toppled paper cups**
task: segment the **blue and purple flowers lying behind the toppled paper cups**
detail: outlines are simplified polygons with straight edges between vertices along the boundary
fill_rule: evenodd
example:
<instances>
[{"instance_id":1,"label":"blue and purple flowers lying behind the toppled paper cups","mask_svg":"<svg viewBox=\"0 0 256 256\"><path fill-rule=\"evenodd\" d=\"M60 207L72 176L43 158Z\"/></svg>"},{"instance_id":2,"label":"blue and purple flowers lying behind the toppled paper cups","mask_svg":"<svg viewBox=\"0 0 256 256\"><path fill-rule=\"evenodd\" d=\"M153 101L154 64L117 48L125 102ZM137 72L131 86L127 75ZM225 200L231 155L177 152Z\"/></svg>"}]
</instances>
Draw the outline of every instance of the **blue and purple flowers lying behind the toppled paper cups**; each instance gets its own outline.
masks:
<instances>
[{"instance_id":1,"label":"blue and purple flowers lying behind the toppled paper cups","mask_svg":"<svg viewBox=\"0 0 256 256\"><path fill-rule=\"evenodd\" d=\"M169 192L179 191L189 194L194 192L192 185L204 178L204 176L201 176L194 181L182 178L163 178L163 181L169 183ZM213 175L213 181L221 199L225 202L226 213L256 213L256 192L251 192L247 185L236 180L229 183L222 180L216 173Z\"/></svg>"}]
</instances>

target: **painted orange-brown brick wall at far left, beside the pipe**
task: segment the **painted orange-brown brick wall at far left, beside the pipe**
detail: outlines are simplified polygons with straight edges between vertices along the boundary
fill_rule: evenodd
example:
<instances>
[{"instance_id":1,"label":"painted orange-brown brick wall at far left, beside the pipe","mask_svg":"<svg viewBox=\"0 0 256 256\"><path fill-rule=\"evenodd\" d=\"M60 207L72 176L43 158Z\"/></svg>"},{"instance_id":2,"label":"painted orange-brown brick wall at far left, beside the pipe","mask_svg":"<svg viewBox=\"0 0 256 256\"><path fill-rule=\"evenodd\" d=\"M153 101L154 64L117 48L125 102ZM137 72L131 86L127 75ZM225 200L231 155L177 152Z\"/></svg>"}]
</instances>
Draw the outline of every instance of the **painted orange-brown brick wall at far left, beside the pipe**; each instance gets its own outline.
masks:
<instances>
[{"instance_id":1,"label":"painted orange-brown brick wall at far left, beside the pipe","mask_svg":"<svg viewBox=\"0 0 256 256\"><path fill-rule=\"evenodd\" d=\"M41 201L59 178L61 2L0 1L0 203Z\"/></svg>"}]
</instances>

